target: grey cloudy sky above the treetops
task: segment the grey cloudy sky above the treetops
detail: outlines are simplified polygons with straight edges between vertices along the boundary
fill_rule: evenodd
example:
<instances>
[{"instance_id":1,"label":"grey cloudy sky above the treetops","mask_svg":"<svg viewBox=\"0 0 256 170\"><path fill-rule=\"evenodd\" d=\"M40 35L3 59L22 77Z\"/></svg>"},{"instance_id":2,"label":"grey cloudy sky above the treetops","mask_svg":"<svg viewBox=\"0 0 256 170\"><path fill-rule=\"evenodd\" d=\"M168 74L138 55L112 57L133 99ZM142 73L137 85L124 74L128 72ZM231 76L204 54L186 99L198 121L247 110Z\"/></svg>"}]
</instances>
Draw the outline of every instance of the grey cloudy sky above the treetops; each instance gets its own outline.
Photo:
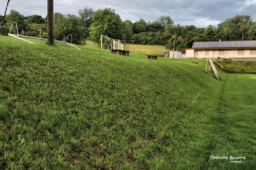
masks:
<instances>
[{"instance_id":1,"label":"grey cloudy sky above the treetops","mask_svg":"<svg viewBox=\"0 0 256 170\"><path fill-rule=\"evenodd\" d=\"M217 25L237 14L251 15L256 21L256 0L54 0L54 12L77 14L80 8L112 8L122 20L146 21L169 15L175 23L206 27ZM0 14L3 15L7 0L0 0ZM15 9L23 15L47 14L47 0L11 0L8 11Z\"/></svg>"}]
</instances>

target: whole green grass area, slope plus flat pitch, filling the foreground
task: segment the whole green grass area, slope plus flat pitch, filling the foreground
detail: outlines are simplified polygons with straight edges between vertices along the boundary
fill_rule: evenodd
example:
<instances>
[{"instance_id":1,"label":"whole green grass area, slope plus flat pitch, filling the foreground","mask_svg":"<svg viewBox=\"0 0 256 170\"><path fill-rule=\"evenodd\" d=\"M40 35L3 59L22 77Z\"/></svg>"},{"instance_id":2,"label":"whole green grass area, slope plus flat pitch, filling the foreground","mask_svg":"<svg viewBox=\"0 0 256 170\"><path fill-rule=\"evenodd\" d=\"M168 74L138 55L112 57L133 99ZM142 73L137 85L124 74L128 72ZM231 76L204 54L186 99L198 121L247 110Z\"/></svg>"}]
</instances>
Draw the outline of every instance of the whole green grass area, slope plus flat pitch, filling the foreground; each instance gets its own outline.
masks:
<instances>
[{"instance_id":1,"label":"whole green grass area, slope plus flat pitch, filling the foreground","mask_svg":"<svg viewBox=\"0 0 256 170\"><path fill-rule=\"evenodd\" d=\"M0 169L256 167L256 75L31 41L0 36Z\"/></svg>"}]
</instances>

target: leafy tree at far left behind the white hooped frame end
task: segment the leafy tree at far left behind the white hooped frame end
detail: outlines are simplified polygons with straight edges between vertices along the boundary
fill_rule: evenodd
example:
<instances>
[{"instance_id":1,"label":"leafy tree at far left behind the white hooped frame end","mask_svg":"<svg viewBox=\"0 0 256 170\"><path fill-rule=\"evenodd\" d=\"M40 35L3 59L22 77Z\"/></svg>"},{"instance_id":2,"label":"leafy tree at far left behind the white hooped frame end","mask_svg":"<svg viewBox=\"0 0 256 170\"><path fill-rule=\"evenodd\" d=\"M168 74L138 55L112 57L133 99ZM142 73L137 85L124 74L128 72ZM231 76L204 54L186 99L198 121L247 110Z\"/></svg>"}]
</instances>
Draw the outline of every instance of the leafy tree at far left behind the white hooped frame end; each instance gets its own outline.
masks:
<instances>
[{"instance_id":1,"label":"leafy tree at far left behind the white hooped frame end","mask_svg":"<svg viewBox=\"0 0 256 170\"><path fill-rule=\"evenodd\" d=\"M6 20L7 26L11 26L13 22L16 22L18 25L18 31L21 31L26 27L24 16L13 9L10 11L9 15L6 16Z\"/></svg>"}]
</instances>

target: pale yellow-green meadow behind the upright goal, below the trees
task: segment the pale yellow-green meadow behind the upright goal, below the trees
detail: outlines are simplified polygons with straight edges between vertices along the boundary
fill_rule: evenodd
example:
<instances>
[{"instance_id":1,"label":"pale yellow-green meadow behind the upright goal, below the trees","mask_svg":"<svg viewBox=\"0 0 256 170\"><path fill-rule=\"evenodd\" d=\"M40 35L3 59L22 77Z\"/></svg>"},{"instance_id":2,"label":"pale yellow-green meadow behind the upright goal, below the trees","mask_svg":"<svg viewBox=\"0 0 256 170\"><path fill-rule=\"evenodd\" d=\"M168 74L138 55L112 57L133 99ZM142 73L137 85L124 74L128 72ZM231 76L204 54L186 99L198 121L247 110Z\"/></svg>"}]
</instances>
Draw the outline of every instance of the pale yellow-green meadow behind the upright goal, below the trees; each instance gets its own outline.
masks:
<instances>
[{"instance_id":1,"label":"pale yellow-green meadow behind the upright goal, below the trees","mask_svg":"<svg viewBox=\"0 0 256 170\"><path fill-rule=\"evenodd\" d=\"M94 42L87 40L86 46L99 48ZM141 54L141 55L161 55L163 51L166 51L163 45L139 45L139 44L129 44L131 53Z\"/></svg>"}]
</instances>

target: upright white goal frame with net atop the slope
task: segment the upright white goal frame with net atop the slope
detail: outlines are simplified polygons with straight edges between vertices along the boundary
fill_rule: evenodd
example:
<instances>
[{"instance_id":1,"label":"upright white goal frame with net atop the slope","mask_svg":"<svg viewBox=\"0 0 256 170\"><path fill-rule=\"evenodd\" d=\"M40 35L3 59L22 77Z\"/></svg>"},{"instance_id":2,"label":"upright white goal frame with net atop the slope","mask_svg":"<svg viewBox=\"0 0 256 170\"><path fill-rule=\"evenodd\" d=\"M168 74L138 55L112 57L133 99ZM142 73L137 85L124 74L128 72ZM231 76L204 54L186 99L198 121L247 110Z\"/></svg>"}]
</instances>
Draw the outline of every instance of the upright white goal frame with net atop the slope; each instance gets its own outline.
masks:
<instances>
[{"instance_id":1,"label":"upright white goal frame with net atop the slope","mask_svg":"<svg viewBox=\"0 0 256 170\"><path fill-rule=\"evenodd\" d=\"M129 45L125 41L114 40L106 35L101 36L102 50L125 50L129 51Z\"/></svg>"}]
</instances>

